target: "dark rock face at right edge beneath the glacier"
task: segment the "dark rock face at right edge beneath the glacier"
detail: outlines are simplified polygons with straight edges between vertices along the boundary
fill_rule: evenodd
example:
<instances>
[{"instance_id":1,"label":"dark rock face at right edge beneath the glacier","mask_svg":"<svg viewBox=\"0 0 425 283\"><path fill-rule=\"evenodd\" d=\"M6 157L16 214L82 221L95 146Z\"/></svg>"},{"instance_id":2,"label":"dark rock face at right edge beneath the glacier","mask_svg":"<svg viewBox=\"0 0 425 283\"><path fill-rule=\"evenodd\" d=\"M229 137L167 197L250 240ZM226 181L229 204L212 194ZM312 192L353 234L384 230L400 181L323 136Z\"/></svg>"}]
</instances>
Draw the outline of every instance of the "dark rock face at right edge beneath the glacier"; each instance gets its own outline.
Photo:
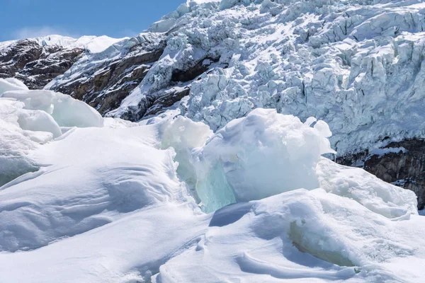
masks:
<instances>
[{"instance_id":1,"label":"dark rock face at right edge beneath the glacier","mask_svg":"<svg viewBox=\"0 0 425 283\"><path fill-rule=\"evenodd\" d=\"M391 142L380 154L364 151L337 161L364 168L387 183L412 190L418 197L418 209L425 207L425 139Z\"/></svg>"}]
</instances>

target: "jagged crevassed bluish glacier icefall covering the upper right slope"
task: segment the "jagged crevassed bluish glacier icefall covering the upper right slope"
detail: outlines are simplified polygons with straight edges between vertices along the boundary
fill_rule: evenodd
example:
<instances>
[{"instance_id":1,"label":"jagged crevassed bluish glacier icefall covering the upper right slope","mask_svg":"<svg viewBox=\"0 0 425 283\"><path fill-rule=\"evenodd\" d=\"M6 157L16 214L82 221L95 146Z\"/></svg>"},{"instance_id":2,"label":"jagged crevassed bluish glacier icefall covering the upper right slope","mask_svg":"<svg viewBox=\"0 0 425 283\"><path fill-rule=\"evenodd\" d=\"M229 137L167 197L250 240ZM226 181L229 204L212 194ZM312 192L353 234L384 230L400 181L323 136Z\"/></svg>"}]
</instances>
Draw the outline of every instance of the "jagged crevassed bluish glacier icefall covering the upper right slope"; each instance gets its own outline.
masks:
<instances>
[{"instance_id":1,"label":"jagged crevassed bluish glacier icefall covering the upper right slope","mask_svg":"<svg viewBox=\"0 0 425 283\"><path fill-rule=\"evenodd\" d=\"M254 108L276 108L327 122L344 155L385 137L423 135L424 25L419 0L188 1L137 37L81 58L46 88L84 80L136 44L165 45L108 115L139 120L162 90L190 84L181 113L213 131ZM196 80L172 81L205 58L217 64Z\"/></svg>"}]
</instances>

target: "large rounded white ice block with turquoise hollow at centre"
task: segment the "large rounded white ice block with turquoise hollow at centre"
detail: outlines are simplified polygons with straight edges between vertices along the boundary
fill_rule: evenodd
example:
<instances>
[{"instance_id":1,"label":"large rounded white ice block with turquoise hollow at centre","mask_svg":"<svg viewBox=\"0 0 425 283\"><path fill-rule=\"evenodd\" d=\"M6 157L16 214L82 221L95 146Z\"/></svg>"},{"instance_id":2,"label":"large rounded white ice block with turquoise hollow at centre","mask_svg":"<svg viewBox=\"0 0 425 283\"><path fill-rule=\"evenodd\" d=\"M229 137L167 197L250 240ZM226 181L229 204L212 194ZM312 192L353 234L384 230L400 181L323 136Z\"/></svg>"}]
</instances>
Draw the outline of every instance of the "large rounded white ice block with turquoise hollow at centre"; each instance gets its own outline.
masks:
<instances>
[{"instance_id":1,"label":"large rounded white ice block with turquoise hollow at centre","mask_svg":"<svg viewBox=\"0 0 425 283\"><path fill-rule=\"evenodd\" d=\"M276 110L256 109L232 120L208 141L208 127L194 122L184 125L183 119L179 117L172 122L173 127L166 128L163 140L171 140L170 136L179 140L171 141L171 145L176 148L176 161L183 164L183 180L196 175L196 194L206 212L300 187L314 189L319 186L319 157L335 153L327 139L331 136L329 127L312 117L302 123ZM188 141L187 134L199 137L198 142L206 141L205 146L196 148L198 144ZM188 154L184 149L191 149L191 166L185 161ZM194 174L190 173L193 169Z\"/></svg>"}]
</instances>

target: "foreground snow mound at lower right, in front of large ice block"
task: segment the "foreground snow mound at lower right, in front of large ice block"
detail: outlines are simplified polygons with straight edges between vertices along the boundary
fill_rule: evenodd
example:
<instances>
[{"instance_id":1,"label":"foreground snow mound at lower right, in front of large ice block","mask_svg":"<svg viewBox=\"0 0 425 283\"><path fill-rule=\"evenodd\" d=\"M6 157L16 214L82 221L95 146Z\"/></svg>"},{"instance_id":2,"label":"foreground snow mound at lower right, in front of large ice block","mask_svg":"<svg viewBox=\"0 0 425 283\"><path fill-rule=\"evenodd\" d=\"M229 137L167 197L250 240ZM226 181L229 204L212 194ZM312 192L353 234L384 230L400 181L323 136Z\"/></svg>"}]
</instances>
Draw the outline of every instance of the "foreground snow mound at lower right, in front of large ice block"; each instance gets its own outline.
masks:
<instances>
[{"instance_id":1,"label":"foreground snow mound at lower right, in front of large ice block","mask_svg":"<svg viewBox=\"0 0 425 283\"><path fill-rule=\"evenodd\" d=\"M153 282L416 282L424 221L391 221L322 189L284 192L212 214Z\"/></svg>"}]
</instances>

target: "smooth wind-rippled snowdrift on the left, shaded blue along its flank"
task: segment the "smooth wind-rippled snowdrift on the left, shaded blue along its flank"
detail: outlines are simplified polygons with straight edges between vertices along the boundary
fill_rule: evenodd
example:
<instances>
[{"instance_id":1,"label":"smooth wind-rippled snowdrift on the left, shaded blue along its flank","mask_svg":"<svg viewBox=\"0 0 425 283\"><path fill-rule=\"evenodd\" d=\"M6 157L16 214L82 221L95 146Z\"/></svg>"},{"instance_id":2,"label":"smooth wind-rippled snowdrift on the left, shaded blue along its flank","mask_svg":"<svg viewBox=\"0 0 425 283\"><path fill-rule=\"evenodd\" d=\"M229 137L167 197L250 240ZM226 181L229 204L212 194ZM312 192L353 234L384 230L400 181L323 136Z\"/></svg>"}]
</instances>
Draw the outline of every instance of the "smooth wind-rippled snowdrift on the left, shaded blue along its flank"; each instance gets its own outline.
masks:
<instances>
[{"instance_id":1,"label":"smooth wind-rippled snowdrift on the left, shaded blue along its flank","mask_svg":"<svg viewBox=\"0 0 425 283\"><path fill-rule=\"evenodd\" d=\"M187 202L174 151L155 149L151 128L76 128L31 154L51 165L0 191L0 250L40 248L137 209Z\"/></svg>"}]
</instances>

